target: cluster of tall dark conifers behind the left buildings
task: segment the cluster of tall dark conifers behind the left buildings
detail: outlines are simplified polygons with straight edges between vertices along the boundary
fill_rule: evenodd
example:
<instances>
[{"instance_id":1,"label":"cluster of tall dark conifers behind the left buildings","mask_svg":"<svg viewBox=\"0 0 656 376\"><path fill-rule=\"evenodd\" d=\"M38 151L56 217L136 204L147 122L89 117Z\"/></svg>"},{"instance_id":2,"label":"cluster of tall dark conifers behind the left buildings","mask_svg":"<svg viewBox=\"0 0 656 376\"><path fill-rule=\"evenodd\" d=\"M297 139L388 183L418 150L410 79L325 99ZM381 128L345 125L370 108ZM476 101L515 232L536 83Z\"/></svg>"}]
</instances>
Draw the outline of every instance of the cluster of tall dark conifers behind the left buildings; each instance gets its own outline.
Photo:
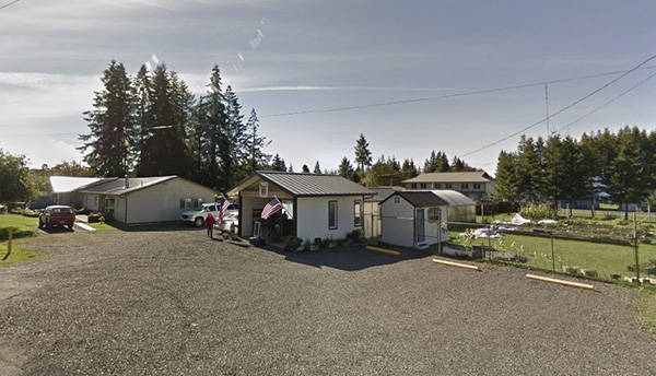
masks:
<instances>
[{"instance_id":1,"label":"cluster of tall dark conifers behind the left buildings","mask_svg":"<svg viewBox=\"0 0 656 376\"><path fill-rule=\"evenodd\" d=\"M256 169L285 168L279 155L265 152L270 141L259 131L256 110L244 121L218 66L199 96L164 63L152 72L142 64L129 75L113 60L101 81L79 148L99 176L178 175L226 190Z\"/></svg>"}]
</instances>

